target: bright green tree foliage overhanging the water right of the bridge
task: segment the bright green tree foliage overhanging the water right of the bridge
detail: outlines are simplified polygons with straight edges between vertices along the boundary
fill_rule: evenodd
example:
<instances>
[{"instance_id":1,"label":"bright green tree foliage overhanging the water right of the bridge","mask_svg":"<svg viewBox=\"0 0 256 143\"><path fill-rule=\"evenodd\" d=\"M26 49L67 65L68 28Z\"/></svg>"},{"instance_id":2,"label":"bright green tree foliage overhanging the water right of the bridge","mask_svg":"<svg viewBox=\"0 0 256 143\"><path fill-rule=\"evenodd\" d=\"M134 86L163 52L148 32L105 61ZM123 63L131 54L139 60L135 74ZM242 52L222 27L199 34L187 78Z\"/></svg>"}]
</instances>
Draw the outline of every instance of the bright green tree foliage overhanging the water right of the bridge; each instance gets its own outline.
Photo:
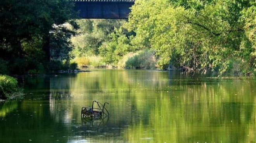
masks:
<instances>
[{"instance_id":1,"label":"bright green tree foliage overhanging the water right of the bridge","mask_svg":"<svg viewBox=\"0 0 256 143\"><path fill-rule=\"evenodd\" d=\"M250 0L137 0L100 55L116 64L128 52L152 49L162 69L204 74L230 71L231 57L256 65L255 11Z\"/></svg>"}]
</instances>

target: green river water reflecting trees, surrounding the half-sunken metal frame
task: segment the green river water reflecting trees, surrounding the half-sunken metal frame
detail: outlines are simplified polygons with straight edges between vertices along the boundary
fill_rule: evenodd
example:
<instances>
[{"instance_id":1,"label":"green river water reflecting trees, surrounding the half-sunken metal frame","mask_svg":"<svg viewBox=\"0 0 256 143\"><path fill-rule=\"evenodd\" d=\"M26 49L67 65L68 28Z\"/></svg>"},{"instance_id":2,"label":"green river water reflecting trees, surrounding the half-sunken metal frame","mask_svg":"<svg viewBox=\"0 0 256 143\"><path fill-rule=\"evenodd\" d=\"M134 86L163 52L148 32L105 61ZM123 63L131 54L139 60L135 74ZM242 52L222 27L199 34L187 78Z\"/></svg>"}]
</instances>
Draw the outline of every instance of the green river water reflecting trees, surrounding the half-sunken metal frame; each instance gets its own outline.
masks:
<instances>
[{"instance_id":1,"label":"green river water reflecting trees, surrounding the half-sunken metal frame","mask_svg":"<svg viewBox=\"0 0 256 143\"><path fill-rule=\"evenodd\" d=\"M255 143L254 77L92 69L19 79L0 103L0 143ZM109 118L81 119L93 100Z\"/></svg>"}]
</instances>

